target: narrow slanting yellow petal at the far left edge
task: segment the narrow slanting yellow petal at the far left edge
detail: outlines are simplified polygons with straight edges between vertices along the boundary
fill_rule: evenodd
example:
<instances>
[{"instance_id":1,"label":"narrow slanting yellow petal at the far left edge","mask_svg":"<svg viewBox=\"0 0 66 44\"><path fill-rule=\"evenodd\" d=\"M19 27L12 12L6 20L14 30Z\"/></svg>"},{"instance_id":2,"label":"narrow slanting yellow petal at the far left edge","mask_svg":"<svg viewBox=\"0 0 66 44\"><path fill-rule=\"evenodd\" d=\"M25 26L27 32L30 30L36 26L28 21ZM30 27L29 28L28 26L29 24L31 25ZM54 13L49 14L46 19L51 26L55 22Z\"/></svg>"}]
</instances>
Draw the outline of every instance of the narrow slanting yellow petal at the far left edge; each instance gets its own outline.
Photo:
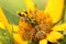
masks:
<instances>
[{"instance_id":1,"label":"narrow slanting yellow petal at the far left edge","mask_svg":"<svg viewBox=\"0 0 66 44\"><path fill-rule=\"evenodd\" d=\"M3 23L3 25L9 30L9 32L11 31L11 25L9 24L3 11L2 11L2 8L0 7L0 21Z\"/></svg>"}]
</instances>

